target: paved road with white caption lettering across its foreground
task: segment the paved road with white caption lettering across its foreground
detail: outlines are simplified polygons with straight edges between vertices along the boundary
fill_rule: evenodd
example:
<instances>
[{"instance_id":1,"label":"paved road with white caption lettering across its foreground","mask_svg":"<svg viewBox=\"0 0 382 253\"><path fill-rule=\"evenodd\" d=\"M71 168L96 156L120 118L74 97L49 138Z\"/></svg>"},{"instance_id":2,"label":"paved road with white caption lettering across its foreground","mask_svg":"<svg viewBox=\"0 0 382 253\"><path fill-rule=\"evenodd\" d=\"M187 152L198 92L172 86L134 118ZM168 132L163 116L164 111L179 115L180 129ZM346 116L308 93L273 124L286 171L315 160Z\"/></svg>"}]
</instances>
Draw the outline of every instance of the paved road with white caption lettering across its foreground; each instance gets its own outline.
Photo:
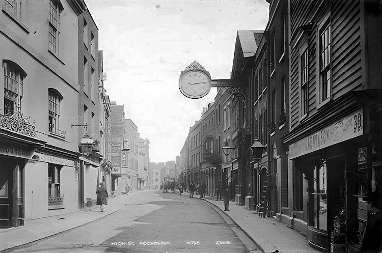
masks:
<instances>
[{"instance_id":1,"label":"paved road with white caption lettering across its foreground","mask_svg":"<svg viewBox=\"0 0 382 253\"><path fill-rule=\"evenodd\" d=\"M261 252L203 200L141 191L120 204L110 216L10 252Z\"/></svg>"}]
</instances>

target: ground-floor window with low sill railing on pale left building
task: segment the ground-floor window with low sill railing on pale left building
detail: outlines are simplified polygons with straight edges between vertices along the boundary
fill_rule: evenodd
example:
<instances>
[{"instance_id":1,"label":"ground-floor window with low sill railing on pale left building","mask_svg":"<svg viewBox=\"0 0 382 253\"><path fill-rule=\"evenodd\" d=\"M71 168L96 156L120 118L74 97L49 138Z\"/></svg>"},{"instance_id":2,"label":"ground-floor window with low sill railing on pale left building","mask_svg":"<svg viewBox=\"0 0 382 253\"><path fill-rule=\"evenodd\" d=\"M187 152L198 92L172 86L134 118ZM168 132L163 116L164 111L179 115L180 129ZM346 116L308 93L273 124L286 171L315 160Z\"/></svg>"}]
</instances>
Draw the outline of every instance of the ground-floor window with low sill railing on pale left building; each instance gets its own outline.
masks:
<instances>
[{"instance_id":1,"label":"ground-floor window with low sill railing on pale left building","mask_svg":"<svg viewBox=\"0 0 382 253\"><path fill-rule=\"evenodd\" d=\"M61 166L48 164L48 204L62 204L64 199L60 194Z\"/></svg>"}]
</instances>

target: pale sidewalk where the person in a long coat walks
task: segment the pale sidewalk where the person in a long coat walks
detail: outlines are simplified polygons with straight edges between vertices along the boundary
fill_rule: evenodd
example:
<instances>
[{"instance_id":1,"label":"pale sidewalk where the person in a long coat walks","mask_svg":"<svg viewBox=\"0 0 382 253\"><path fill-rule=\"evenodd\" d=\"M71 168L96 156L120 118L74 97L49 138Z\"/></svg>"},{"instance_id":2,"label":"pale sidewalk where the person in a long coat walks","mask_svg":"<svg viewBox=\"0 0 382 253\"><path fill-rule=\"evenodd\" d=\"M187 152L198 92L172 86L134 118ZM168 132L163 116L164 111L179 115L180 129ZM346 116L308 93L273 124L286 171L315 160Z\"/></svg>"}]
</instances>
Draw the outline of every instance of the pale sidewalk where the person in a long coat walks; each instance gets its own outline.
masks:
<instances>
[{"instance_id":1,"label":"pale sidewalk where the person in a long coat walks","mask_svg":"<svg viewBox=\"0 0 382 253\"><path fill-rule=\"evenodd\" d=\"M92 206L69 214L25 220L24 226L2 229L0 251L41 240L115 213L124 207L126 197L127 195L117 195L115 198L109 198L103 212L100 212L99 206Z\"/></svg>"}]
</instances>

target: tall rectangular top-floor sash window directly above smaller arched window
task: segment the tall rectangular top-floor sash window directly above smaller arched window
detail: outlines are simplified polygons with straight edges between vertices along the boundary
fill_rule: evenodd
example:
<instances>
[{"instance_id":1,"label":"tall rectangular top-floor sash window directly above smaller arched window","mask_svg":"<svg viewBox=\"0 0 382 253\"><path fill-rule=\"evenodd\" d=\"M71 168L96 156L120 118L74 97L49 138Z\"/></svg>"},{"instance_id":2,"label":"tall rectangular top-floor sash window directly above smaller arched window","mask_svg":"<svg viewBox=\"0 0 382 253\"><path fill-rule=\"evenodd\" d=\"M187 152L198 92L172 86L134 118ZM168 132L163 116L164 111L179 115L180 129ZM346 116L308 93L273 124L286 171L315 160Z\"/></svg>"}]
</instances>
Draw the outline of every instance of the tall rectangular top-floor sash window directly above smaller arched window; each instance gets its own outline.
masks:
<instances>
[{"instance_id":1,"label":"tall rectangular top-floor sash window directly above smaller arched window","mask_svg":"<svg viewBox=\"0 0 382 253\"><path fill-rule=\"evenodd\" d=\"M60 13L62 7L59 1L50 1L49 6L49 50L54 54L59 54L59 34L60 34Z\"/></svg>"}]
</instances>

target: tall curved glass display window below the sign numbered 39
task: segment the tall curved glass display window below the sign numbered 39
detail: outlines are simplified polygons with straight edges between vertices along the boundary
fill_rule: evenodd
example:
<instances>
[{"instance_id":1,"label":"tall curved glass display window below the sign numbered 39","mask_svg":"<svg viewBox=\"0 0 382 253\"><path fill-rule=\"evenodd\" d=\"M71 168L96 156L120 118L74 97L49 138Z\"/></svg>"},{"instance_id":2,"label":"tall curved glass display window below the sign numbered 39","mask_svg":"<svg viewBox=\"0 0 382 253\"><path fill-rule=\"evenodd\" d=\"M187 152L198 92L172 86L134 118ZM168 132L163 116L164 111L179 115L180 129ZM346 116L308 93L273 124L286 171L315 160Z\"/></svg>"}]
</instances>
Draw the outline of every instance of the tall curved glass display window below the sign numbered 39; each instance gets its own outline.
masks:
<instances>
[{"instance_id":1,"label":"tall curved glass display window below the sign numbered 39","mask_svg":"<svg viewBox=\"0 0 382 253\"><path fill-rule=\"evenodd\" d=\"M320 165L316 165L313 170L313 215L310 218L310 226L317 229L326 230L326 221L328 216L328 199L326 190L328 189L326 181L326 161L323 160Z\"/></svg>"}]
</instances>

